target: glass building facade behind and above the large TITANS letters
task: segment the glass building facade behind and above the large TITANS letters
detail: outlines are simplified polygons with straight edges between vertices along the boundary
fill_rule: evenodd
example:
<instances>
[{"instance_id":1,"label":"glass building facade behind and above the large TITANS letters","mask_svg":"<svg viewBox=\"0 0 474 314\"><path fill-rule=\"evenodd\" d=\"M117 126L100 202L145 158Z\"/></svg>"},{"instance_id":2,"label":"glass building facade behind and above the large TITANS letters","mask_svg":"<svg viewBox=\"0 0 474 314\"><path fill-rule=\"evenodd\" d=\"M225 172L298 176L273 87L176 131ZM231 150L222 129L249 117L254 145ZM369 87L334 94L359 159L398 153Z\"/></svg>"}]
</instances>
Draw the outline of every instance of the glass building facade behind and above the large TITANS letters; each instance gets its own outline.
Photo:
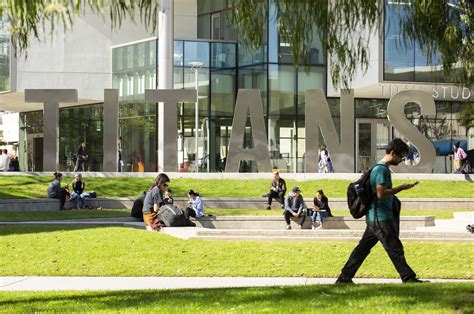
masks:
<instances>
[{"instance_id":1,"label":"glass building facade behind and above the large TITANS letters","mask_svg":"<svg viewBox=\"0 0 474 314\"><path fill-rule=\"evenodd\" d=\"M281 172L305 172L305 90L327 90L326 55L316 29L309 47L309 68L295 68L290 43L277 31L277 15L270 6L264 41L252 50L238 41L237 32L228 21L225 0L199 0L196 40L174 41L174 88L194 89L198 81L198 129L195 127L195 103L178 104L177 171L219 172L225 168L232 132L234 106L239 89L258 89L261 93L272 166ZM400 44L398 14L403 6L385 2L385 40L383 73L385 81L440 82L438 59L427 57L416 43ZM157 105L146 103L146 89L158 86L158 41L148 40L113 47L113 88L119 90L119 135L122 137L123 171L157 170ZM202 62L198 77L190 63ZM472 103L435 101L435 116L422 116L416 104L406 106L406 117L430 139L436 149L434 172L452 172L452 144L468 143L469 119L465 115ZM339 99L328 104L337 132L340 131ZM399 136L387 119L386 99L355 99L354 171L370 167L384 154L386 143ZM41 112L21 114L20 146L28 158L23 169L39 171L42 119ZM74 154L85 141L93 156L88 169L100 171L102 162L102 105L63 108L60 110L61 170L71 170ZM198 147L195 136L198 136ZM253 146L250 122L247 122L244 146ZM376 134L374 137L373 134ZM320 143L324 143L320 138ZM472 145L471 145L472 146ZM375 154L373 147L375 147ZM197 152L197 156L196 156ZM197 162L196 162L197 161ZM36 165L36 166L35 166ZM256 164L242 161L242 172L256 172ZM338 169L336 168L337 172Z\"/></svg>"}]
</instances>

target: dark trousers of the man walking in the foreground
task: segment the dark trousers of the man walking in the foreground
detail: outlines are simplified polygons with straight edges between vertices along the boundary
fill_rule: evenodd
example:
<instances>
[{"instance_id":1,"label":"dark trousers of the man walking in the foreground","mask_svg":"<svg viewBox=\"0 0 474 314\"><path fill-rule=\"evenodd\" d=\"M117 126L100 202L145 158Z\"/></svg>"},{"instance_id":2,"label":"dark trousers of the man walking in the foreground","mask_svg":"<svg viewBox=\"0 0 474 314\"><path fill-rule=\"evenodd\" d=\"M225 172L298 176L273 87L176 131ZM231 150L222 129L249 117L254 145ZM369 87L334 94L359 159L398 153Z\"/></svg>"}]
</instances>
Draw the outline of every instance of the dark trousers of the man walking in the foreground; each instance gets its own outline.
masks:
<instances>
[{"instance_id":1,"label":"dark trousers of the man walking in the foreground","mask_svg":"<svg viewBox=\"0 0 474 314\"><path fill-rule=\"evenodd\" d=\"M405 260L403 245L398 238L399 226L395 226L395 224L393 220L379 221L375 224L373 222L367 222L367 227L362 239L352 251L349 260L341 270L341 277L344 279L352 279L367 255L369 255L370 250L380 241L400 274L402 281L405 282L411 278L415 278L415 272L408 266Z\"/></svg>"}]
</instances>

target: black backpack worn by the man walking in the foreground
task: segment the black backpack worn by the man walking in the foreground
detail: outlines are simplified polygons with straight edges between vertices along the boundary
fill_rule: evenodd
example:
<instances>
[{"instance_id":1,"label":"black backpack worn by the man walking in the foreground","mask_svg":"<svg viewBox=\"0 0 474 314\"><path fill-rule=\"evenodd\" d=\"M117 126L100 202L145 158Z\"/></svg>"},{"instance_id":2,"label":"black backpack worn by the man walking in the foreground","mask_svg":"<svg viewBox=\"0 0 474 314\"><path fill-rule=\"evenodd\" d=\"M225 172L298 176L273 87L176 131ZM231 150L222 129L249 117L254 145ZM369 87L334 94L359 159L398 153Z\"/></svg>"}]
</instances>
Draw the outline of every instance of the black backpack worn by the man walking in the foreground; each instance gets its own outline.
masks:
<instances>
[{"instance_id":1,"label":"black backpack worn by the man walking in the foreground","mask_svg":"<svg viewBox=\"0 0 474 314\"><path fill-rule=\"evenodd\" d=\"M370 208L370 203L375 197L370 187L370 173L379 166L377 164L371 169L364 172L364 174L356 182L352 182L347 187L347 205L352 217L358 219L364 217Z\"/></svg>"}]
</instances>

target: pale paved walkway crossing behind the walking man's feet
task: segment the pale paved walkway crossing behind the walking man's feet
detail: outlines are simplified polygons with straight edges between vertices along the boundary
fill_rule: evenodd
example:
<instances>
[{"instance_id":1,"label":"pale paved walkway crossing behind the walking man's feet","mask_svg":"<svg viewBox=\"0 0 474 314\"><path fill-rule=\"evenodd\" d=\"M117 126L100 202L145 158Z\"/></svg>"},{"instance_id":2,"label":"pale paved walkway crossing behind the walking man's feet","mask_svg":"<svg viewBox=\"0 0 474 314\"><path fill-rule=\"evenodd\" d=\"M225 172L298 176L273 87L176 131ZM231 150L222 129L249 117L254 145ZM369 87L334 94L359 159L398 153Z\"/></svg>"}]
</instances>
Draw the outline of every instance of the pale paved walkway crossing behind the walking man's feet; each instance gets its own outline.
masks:
<instances>
[{"instance_id":1,"label":"pale paved walkway crossing behind the walking man's feet","mask_svg":"<svg viewBox=\"0 0 474 314\"><path fill-rule=\"evenodd\" d=\"M474 282L474 279L428 279L431 282ZM333 284L335 278L294 277L0 277L0 291L138 290L268 287ZM361 284L397 284L400 279L356 278Z\"/></svg>"}]
</instances>

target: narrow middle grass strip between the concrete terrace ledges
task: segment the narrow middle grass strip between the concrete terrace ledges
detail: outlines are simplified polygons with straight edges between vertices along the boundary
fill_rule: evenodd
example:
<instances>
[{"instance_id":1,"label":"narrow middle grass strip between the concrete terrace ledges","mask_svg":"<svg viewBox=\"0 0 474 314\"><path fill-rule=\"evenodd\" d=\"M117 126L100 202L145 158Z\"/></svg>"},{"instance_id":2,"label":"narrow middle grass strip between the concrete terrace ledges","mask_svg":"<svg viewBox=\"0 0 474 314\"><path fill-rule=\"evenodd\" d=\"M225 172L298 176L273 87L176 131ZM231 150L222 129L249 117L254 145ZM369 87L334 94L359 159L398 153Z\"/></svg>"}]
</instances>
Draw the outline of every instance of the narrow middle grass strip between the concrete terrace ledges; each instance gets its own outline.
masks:
<instances>
[{"instance_id":1,"label":"narrow middle grass strip between the concrete terrace ledges","mask_svg":"<svg viewBox=\"0 0 474 314\"><path fill-rule=\"evenodd\" d=\"M333 210L334 216L349 216L348 210ZM402 210L402 216L435 216L452 219L454 210ZM458 211L456 211L458 212ZM281 210L262 209L206 209L206 215L215 216L281 216ZM66 210L44 212L0 212L0 221L40 221L89 218L130 217L129 209Z\"/></svg>"}]
</instances>

